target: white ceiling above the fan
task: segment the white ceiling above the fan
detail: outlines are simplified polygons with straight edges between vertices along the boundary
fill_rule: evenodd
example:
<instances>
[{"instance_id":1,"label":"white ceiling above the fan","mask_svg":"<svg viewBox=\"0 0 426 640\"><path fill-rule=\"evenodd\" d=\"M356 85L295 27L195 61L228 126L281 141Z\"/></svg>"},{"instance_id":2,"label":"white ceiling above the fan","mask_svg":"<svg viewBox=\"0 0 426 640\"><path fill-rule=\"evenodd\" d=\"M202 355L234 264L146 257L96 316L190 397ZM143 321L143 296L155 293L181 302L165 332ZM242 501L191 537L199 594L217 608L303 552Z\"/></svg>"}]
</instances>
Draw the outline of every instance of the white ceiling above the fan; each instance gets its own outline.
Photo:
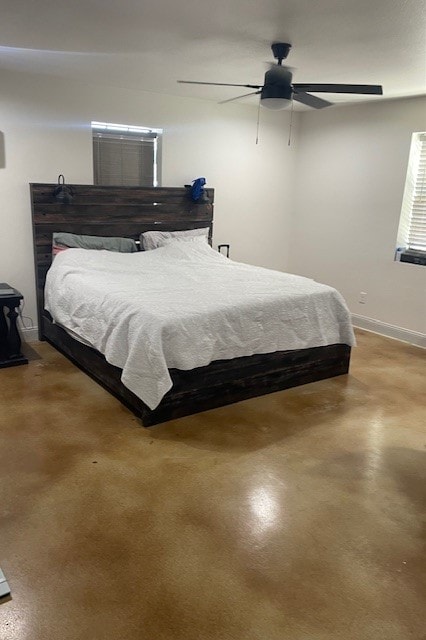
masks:
<instances>
[{"instance_id":1,"label":"white ceiling above the fan","mask_svg":"<svg viewBox=\"0 0 426 640\"><path fill-rule=\"evenodd\" d=\"M248 90L176 80L262 84L284 41L294 82L426 92L424 0L0 0L0 12L0 69L219 101Z\"/></svg>"}]
</instances>

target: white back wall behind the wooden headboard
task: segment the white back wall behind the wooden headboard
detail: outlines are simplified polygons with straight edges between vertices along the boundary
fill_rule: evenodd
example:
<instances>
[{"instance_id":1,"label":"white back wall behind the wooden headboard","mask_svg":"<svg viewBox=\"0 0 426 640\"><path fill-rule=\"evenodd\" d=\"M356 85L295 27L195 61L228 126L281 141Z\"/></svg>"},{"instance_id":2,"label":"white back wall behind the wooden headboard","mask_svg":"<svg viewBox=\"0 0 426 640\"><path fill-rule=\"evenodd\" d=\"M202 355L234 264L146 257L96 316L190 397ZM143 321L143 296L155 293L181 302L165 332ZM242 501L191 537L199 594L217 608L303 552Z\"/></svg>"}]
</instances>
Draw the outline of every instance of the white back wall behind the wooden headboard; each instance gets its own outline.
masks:
<instances>
[{"instance_id":1,"label":"white back wall behind the wooden headboard","mask_svg":"<svg viewBox=\"0 0 426 640\"><path fill-rule=\"evenodd\" d=\"M287 146L289 114L241 104L0 74L0 281L25 296L36 319L29 182L93 180L90 122L161 127L163 185L205 176L215 192L214 243L235 260L286 269L297 141ZM3 165L5 164L4 168Z\"/></svg>"}]
</instances>

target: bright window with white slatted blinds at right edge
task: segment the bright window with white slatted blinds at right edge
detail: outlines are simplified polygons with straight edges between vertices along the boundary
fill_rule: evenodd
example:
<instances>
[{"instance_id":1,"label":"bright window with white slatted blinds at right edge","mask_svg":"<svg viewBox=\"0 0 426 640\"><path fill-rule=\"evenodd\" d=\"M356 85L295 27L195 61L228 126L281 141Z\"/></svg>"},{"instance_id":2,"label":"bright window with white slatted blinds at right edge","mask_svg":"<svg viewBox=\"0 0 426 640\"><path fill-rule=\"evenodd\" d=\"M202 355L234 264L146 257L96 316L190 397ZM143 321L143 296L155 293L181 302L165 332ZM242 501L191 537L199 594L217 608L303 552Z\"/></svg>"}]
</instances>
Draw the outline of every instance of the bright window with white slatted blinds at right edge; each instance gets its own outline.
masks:
<instances>
[{"instance_id":1,"label":"bright window with white slatted blinds at right edge","mask_svg":"<svg viewBox=\"0 0 426 640\"><path fill-rule=\"evenodd\" d=\"M413 133L398 230L402 262L426 264L426 133ZM418 260L406 259L406 256Z\"/></svg>"}]
</instances>

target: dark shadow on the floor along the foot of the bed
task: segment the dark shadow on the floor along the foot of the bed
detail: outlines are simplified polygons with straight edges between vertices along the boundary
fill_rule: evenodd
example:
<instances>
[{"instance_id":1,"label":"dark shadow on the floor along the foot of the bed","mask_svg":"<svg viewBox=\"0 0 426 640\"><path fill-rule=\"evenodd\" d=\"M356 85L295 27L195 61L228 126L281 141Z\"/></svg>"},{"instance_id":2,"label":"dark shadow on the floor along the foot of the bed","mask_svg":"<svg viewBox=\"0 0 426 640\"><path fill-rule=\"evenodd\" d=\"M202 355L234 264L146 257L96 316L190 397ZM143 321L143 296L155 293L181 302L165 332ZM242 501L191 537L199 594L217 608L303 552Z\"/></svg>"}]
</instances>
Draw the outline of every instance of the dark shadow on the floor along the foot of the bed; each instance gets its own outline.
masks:
<instances>
[{"instance_id":1,"label":"dark shadow on the floor along the foot of the bed","mask_svg":"<svg viewBox=\"0 0 426 640\"><path fill-rule=\"evenodd\" d=\"M320 426L333 429L366 402L364 385L339 376L165 422L150 427L149 435L196 449L245 453Z\"/></svg>"}]
</instances>

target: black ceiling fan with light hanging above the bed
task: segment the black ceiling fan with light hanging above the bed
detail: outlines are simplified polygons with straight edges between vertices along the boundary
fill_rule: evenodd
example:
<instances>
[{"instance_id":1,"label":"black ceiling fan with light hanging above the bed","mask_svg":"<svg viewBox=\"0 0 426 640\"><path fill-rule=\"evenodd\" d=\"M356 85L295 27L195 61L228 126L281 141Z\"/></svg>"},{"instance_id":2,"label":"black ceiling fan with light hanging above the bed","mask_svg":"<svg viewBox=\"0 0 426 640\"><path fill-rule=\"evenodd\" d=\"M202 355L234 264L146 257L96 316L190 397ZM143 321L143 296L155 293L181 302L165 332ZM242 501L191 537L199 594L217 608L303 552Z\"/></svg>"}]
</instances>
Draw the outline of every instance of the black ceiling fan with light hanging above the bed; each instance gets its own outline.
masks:
<instances>
[{"instance_id":1,"label":"black ceiling fan with light hanging above the bed","mask_svg":"<svg viewBox=\"0 0 426 640\"><path fill-rule=\"evenodd\" d=\"M313 91L314 93L383 94L381 85L373 84L292 84L293 74L291 69L282 65L282 61L287 58L290 52L291 44L287 42L274 42L271 45L271 49L278 63L271 64L271 68L265 73L263 85L230 84L227 82L195 82L192 80L178 80L178 82L183 84L205 84L221 87L246 87L248 89L256 89L256 91L244 93L229 100L223 100L220 104L239 100L246 96L260 94L260 104L269 109L285 109L291 104L292 100L301 102L314 109L323 109L333 104L332 102L328 102L328 100L323 100L322 98L311 95L308 93L309 91Z\"/></svg>"}]
</instances>

